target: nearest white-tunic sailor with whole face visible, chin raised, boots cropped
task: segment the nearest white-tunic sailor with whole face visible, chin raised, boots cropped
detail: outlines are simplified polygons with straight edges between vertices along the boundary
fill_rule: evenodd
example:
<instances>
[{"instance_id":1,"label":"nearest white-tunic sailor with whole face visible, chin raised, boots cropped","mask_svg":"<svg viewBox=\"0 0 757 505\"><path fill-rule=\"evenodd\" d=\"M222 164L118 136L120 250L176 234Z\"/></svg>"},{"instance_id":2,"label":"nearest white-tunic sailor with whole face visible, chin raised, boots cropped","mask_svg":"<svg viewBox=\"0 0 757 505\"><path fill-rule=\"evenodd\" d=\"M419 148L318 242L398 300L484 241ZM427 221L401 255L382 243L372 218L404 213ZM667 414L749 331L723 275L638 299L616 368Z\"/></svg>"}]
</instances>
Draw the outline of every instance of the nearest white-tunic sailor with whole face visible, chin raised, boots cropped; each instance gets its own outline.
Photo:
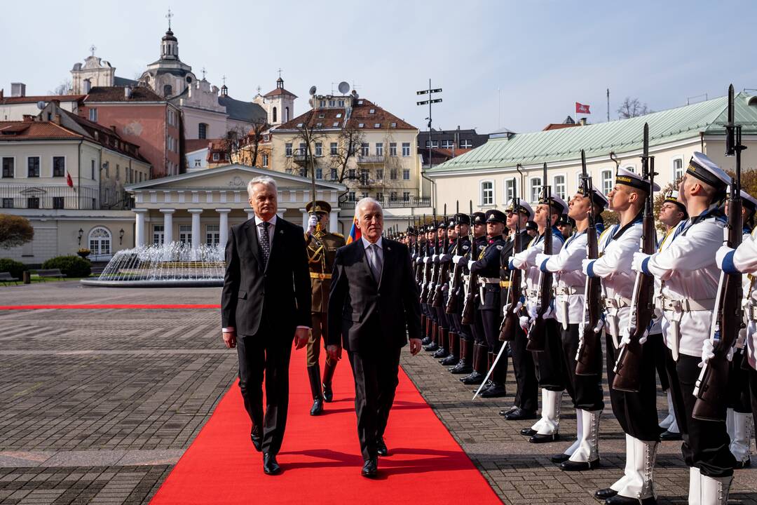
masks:
<instances>
[{"instance_id":1,"label":"nearest white-tunic sailor with whole face visible, chin raised, boots cropped","mask_svg":"<svg viewBox=\"0 0 757 505\"><path fill-rule=\"evenodd\" d=\"M662 328L670 350L668 379L684 438L681 450L690 467L689 503L726 503L736 460L728 448L725 422L692 416L700 362L709 354L712 311L718 291L715 253L723 242L725 218L718 207L729 177L704 154L695 152L678 187L689 214L665 251L634 254L633 270L662 280ZM723 412L725 416L725 412Z\"/></svg>"}]
</instances>

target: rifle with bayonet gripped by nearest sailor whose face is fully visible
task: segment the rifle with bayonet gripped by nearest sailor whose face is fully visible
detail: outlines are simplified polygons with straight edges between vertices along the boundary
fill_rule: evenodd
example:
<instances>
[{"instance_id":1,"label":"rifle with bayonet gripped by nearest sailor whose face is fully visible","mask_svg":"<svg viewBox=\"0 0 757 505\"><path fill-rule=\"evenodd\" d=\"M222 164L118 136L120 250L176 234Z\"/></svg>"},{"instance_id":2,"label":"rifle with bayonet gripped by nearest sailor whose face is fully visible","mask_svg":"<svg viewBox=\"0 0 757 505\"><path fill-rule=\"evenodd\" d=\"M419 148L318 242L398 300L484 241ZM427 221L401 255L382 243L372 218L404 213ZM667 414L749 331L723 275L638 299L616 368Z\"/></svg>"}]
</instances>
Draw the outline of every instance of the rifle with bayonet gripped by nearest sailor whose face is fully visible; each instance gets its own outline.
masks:
<instances>
[{"instance_id":1,"label":"rifle with bayonet gripped by nearest sailor whose face is fully visible","mask_svg":"<svg viewBox=\"0 0 757 505\"><path fill-rule=\"evenodd\" d=\"M654 216L654 179L655 158L650 157L650 129L644 123L643 154L641 156L641 173L650 184L650 192L644 201L641 225L641 247L644 254L655 254L657 240ZM628 332L631 341L621 346L618 360L615 362L615 379L612 387L618 391L638 392L642 376L642 348L640 339L652 326L655 316L654 306L655 279L646 273L637 272L634 282L634 294L631 296L631 316L628 320Z\"/></svg>"}]
</instances>

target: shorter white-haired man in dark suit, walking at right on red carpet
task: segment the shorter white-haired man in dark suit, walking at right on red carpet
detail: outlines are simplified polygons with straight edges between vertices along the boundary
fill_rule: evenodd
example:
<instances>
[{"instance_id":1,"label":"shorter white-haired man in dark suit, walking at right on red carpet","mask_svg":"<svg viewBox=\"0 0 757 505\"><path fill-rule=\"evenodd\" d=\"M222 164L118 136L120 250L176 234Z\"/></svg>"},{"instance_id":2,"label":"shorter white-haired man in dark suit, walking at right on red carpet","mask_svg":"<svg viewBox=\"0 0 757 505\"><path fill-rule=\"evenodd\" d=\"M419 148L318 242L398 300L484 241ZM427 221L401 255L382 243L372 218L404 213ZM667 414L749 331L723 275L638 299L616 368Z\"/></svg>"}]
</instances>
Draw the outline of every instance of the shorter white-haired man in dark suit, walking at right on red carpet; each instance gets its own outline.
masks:
<instances>
[{"instance_id":1,"label":"shorter white-haired man in dark suit, walking at right on red carpet","mask_svg":"<svg viewBox=\"0 0 757 505\"><path fill-rule=\"evenodd\" d=\"M355 377L357 435L362 475L375 477L394 402L400 350L410 336L410 353L421 348L421 307L406 245L382 238L384 214L372 198L355 207L362 237L339 248L329 295L329 345L333 359L347 350Z\"/></svg>"}]
</instances>

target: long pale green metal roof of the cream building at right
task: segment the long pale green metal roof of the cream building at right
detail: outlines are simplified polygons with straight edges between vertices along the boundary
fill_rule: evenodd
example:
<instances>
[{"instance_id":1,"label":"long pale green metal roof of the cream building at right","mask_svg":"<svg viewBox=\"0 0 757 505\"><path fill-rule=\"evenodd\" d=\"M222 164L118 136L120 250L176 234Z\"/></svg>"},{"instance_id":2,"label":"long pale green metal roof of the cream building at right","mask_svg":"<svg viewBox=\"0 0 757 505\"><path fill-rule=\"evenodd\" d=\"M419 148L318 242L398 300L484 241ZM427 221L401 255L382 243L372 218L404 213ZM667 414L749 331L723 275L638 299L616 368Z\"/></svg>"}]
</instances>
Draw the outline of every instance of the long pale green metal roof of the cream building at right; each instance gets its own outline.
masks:
<instances>
[{"instance_id":1,"label":"long pale green metal roof of the cream building at right","mask_svg":"<svg viewBox=\"0 0 757 505\"><path fill-rule=\"evenodd\" d=\"M743 133L757 132L757 105L749 105L757 97L739 93L734 98L736 123ZM516 164L542 164L570 161L586 157L621 154L642 148L644 123L650 125L650 147L708 135L724 134L727 120L727 97L713 98L684 107L659 111L627 120L590 124L546 132L517 133L509 139L491 139L481 147L453 157L428 170L430 176L459 170L484 170L514 167Z\"/></svg>"}]
</instances>

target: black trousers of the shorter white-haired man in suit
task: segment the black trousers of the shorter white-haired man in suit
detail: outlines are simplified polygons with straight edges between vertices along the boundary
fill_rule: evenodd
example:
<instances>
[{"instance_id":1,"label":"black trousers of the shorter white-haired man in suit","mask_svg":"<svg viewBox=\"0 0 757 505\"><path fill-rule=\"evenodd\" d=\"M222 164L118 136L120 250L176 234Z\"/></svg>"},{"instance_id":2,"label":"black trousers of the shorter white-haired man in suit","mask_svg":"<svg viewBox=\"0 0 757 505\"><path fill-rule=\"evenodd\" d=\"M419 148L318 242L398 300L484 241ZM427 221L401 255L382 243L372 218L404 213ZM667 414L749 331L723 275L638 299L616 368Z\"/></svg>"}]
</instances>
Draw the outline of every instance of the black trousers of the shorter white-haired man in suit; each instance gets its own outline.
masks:
<instances>
[{"instance_id":1,"label":"black trousers of the shorter white-haired man in suit","mask_svg":"<svg viewBox=\"0 0 757 505\"><path fill-rule=\"evenodd\" d=\"M376 438L384 436L399 383L400 351L401 348L388 348L347 353L355 379L357 438L363 460L377 457Z\"/></svg>"}]
</instances>

